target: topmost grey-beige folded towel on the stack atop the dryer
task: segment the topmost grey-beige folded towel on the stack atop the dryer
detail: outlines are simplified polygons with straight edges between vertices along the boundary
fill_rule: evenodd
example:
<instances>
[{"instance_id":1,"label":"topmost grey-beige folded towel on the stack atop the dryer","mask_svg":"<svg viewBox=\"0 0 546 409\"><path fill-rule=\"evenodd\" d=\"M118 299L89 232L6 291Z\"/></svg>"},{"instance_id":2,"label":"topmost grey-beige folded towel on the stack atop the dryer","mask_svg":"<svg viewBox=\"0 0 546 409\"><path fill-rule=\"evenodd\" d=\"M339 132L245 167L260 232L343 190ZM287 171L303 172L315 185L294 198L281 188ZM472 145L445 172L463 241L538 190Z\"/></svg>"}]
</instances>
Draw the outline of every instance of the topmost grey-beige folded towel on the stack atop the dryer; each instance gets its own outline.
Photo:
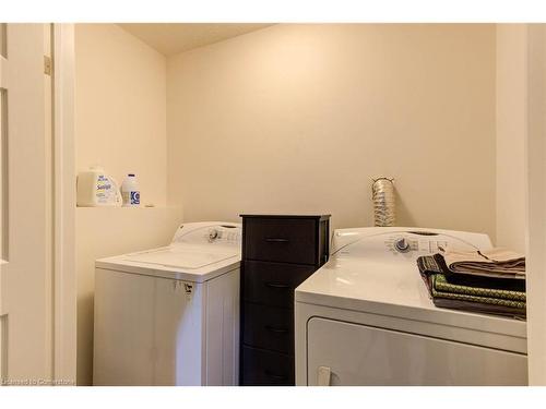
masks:
<instances>
[{"instance_id":1,"label":"topmost grey-beige folded towel on the stack atop the dryer","mask_svg":"<svg viewBox=\"0 0 546 409\"><path fill-rule=\"evenodd\" d=\"M444 249L441 254L452 273L525 279L525 256L511 250L462 252Z\"/></svg>"}]
</instances>

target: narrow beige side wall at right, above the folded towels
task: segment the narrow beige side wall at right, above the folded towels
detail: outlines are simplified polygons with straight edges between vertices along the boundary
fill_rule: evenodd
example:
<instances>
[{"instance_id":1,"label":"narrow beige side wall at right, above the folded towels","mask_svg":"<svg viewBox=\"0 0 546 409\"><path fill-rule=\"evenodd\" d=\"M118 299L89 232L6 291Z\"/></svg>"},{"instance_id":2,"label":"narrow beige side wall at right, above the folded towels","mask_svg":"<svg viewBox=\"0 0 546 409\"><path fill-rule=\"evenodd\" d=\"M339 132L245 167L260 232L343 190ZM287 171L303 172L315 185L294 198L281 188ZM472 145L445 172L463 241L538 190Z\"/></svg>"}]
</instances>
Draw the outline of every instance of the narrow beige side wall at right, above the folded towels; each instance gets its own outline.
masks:
<instances>
[{"instance_id":1,"label":"narrow beige side wall at right, above the folded towels","mask_svg":"<svg viewBox=\"0 0 546 409\"><path fill-rule=\"evenodd\" d=\"M525 251L526 26L497 25L497 244Z\"/></svg>"}]
</instances>

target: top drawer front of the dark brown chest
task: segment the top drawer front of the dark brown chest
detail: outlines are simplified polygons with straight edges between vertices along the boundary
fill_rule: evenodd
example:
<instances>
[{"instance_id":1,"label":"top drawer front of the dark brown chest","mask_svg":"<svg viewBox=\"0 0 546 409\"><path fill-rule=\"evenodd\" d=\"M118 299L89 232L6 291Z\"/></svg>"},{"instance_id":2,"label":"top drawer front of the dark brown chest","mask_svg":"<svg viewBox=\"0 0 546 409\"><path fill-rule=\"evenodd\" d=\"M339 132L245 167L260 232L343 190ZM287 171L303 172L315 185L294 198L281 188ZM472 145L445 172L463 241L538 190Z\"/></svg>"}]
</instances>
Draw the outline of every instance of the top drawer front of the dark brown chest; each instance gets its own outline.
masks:
<instances>
[{"instance_id":1,"label":"top drawer front of the dark brown chest","mask_svg":"<svg viewBox=\"0 0 546 409\"><path fill-rule=\"evenodd\" d=\"M317 263L317 229L312 219L245 220L245 257L265 262Z\"/></svg>"}]
</instances>

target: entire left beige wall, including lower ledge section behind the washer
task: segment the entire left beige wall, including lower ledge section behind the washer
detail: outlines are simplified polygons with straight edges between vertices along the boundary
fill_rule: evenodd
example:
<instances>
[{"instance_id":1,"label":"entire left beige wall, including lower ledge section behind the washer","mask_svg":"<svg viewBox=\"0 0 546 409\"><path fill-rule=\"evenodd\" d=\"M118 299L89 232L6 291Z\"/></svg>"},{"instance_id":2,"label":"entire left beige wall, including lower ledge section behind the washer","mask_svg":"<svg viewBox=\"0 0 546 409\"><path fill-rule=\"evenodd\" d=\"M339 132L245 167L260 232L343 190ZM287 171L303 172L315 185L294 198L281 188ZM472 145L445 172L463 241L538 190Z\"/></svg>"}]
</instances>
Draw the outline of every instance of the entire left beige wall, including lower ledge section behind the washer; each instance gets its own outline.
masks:
<instances>
[{"instance_id":1,"label":"entire left beige wall, including lower ledge section behind the washer","mask_svg":"<svg viewBox=\"0 0 546 409\"><path fill-rule=\"evenodd\" d=\"M78 383L93 371L95 258L167 243L181 221L166 207L166 60L112 24L75 26L76 169L103 165L119 182L135 172L143 204L78 208Z\"/></svg>"}]
</instances>

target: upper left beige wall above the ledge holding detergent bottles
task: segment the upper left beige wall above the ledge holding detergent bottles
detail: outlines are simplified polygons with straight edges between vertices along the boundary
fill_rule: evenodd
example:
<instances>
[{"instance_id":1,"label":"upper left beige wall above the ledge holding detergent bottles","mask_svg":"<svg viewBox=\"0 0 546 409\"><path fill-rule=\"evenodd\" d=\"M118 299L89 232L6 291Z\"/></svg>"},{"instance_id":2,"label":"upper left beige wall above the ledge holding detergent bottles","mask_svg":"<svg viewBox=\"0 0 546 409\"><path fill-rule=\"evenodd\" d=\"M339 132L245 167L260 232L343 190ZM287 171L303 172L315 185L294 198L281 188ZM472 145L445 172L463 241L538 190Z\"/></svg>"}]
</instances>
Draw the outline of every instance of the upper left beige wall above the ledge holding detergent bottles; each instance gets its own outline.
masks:
<instances>
[{"instance_id":1,"label":"upper left beige wall above the ledge holding detergent bottles","mask_svg":"<svg viewBox=\"0 0 546 409\"><path fill-rule=\"evenodd\" d=\"M76 169L136 173L143 204L165 205L166 59L115 24L78 24Z\"/></svg>"}]
</instances>

